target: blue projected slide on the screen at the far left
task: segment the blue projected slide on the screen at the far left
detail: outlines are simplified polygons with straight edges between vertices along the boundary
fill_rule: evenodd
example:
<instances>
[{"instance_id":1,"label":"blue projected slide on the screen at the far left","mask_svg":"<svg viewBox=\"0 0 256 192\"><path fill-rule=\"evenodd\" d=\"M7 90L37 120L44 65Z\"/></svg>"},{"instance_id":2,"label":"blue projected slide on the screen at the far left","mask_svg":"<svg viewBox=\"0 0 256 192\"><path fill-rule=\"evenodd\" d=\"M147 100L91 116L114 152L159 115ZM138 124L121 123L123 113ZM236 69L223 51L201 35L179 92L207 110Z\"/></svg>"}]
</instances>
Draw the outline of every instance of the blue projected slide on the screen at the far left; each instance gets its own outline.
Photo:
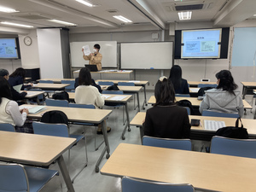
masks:
<instances>
[{"instance_id":1,"label":"blue projected slide on the screen at the far left","mask_svg":"<svg viewBox=\"0 0 256 192\"><path fill-rule=\"evenodd\" d=\"M15 38L0 39L0 58L18 58Z\"/></svg>"}]
</instances>

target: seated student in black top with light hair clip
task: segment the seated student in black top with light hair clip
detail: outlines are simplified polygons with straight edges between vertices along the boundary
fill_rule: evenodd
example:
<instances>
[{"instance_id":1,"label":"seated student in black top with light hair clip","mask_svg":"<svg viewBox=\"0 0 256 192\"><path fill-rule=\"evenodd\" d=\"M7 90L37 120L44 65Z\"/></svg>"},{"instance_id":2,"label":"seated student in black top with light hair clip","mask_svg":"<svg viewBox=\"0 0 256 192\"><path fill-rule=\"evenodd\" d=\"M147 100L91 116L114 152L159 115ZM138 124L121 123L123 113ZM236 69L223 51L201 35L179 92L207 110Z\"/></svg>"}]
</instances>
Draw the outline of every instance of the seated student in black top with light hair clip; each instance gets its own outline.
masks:
<instances>
[{"instance_id":1,"label":"seated student in black top with light hair clip","mask_svg":"<svg viewBox=\"0 0 256 192\"><path fill-rule=\"evenodd\" d=\"M177 106L170 79L161 77L155 84L156 102L149 108L143 123L145 136L163 138L189 138L190 124L186 108Z\"/></svg>"}]
</instances>

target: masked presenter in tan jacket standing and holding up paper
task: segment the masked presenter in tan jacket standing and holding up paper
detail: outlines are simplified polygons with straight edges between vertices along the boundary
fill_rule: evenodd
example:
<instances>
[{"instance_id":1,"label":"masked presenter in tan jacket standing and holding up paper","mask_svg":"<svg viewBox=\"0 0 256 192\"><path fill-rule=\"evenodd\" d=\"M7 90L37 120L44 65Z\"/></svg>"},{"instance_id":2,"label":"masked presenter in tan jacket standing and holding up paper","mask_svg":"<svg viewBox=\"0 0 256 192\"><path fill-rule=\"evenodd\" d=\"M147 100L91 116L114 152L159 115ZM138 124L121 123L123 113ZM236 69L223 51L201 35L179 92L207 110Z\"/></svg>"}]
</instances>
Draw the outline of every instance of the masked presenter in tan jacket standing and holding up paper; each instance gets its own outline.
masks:
<instances>
[{"instance_id":1,"label":"masked presenter in tan jacket standing and holding up paper","mask_svg":"<svg viewBox=\"0 0 256 192\"><path fill-rule=\"evenodd\" d=\"M82 49L84 60L89 60L89 65L96 65L99 71L102 70L102 54L99 53L100 49L101 46L95 44L93 46L93 53L90 53L90 55L84 55L84 49Z\"/></svg>"}]
</instances>

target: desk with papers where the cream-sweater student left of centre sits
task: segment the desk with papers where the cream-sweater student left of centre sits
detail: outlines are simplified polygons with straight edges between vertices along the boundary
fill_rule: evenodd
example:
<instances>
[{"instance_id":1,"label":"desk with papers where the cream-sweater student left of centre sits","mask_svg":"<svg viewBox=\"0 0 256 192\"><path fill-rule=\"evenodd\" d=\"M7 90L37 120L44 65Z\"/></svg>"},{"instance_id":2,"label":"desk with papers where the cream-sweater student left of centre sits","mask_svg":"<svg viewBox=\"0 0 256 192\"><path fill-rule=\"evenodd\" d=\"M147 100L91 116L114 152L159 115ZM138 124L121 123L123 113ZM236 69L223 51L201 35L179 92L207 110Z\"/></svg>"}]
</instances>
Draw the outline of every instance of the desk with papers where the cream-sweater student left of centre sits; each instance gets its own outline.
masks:
<instances>
[{"instance_id":1,"label":"desk with papers where the cream-sweater student left of centre sits","mask_svg":"<svg viewBox=\"0 0 256 192\"><path fill-rule=\"evenodd\" d=\"M128 131L131 131L130 117L129 117L128 107L127 107L127 102L129 102L129 100L131 99L131 95L113 95L113 94L103 94L103 95L104 96L110 96L110 97L104 99L105 102L118 102L118 103L124 103L125 104L125 113L126 113L127 122L125 124L124 131L122 132L122 135L121 135L121 138L123 140L125 140L125 132L127 130L127 127L128 127ZM74 100L75 93L74 92L68 92L68 96L69 96L70 100ZM114 96L126 96L126 97L122 100L113 100Z\"/></svg>"}]
</instances>

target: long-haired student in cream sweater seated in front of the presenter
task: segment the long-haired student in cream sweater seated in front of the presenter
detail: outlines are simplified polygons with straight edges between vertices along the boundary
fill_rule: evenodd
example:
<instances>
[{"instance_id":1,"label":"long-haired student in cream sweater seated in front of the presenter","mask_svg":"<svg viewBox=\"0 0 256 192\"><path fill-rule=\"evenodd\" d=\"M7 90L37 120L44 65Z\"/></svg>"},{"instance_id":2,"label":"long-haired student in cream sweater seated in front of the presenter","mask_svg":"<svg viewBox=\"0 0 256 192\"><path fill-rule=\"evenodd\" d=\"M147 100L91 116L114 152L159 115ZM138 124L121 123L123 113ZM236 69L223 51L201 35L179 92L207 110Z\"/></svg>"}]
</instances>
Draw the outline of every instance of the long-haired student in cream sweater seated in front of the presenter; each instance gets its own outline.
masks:
<instances>
[{"instance_id":1,"label":"long-haired student in cream sweater seated in front of the presenter","mask_svg":"<svg viewBox=\"0 0 256 192\"><path fill-rule=\"evenodd\" d=\"M96 107L104 106L104 97L99 90L91 85L91 76L89 68L81 68L79 72L79 86L75 90L75 102L78 104L94 105ZM111 128L107 127L107 132ZM97 134L102 134L102 126L98 126Z\"/></svg>"}]
</instances>

